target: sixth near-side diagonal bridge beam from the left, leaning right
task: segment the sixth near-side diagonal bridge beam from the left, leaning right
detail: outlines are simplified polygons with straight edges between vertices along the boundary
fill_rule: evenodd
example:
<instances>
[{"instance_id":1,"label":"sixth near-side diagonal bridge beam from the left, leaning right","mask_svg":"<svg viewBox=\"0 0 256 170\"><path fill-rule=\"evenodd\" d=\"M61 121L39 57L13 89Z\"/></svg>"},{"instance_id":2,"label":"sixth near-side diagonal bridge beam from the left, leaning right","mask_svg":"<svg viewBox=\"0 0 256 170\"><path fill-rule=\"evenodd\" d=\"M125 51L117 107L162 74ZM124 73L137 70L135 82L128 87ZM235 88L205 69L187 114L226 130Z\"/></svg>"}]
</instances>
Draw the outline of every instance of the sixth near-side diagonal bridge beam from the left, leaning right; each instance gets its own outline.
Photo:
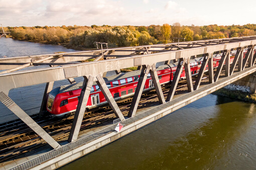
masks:
<instances>
[{"instance_id":1,"label":"sixth near-side diagonal bridge beam from the left, leaning right","mask_svg":"<svg viewBox=\"0 0 256 170\"><path fill-rule=\"evenodd\" d=\"M185 65L184 59L179 58L179 62L178 62L178 65L177 65L177 68L176 68L176 71L175 71L175 74L174 74L173 81L171 83L170 90L169 90L167 98L166 98L166 101L172 100L172 98L174 96L174 93L175 93L175 90L176 90L176 87L178 85L179 79L180 79L180 75L183 71L184 65Z\"/></svg>"}]
</instances>

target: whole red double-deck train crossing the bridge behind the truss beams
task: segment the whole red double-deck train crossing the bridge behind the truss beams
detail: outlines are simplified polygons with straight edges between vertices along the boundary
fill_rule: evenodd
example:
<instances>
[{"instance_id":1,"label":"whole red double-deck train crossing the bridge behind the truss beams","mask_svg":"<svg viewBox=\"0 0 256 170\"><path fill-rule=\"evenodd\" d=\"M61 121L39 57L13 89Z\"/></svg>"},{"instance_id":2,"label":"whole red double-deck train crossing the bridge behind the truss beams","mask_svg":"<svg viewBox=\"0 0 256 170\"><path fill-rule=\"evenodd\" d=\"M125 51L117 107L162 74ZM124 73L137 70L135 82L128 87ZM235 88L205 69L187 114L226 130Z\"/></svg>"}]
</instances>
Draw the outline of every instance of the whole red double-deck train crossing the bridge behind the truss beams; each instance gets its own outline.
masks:
<instances>
[{"instance_id":1,"label":"whole red double-deck train crossing the bridge behind the truss beams","mask_svg":"<svg viewBox=\"0 0 256 170\"><path fill-rule=\"evenodd\" d=\"M243 57L247 49L243 51ZM232 63L234 59L234 55L236 50L230 52L230 63ZM213 56L213 67L217 67L219 65L219 61L221 58L221 54L214 54ZM192 76L198 74L201 64L203 61L203 57L198 57L194 59L190 59L190 69ZM169 63L165 65L161 65L157 67L157 74L160 81L160 84L169 83L173 80L176 68L176 63ZM208 64L206 65L205 71L208 71ZM134 95L139 78L140 78L141 70L131 71L127 73L122 73L118 75L112 75L103 77L105 83L112 94L115 100L119 100L121 98L129 97ZM185 70L180 76L181 79L186 78ZM47 111L51 113L53 116L63 116L68 113L75 112L79 96L81 93L83 82L78 82L69 85L61 85L59 87L54 88L50 91L47 98ZM148 74L144 91L151 90L154 88L153 80L151 78L150 73ZM88 102L86 105L86 110L97 107L103 104L106 104L107 101L101 92L99 86L96 82L93 83L91 87L91 91L89 94Z\"/></svg>"}]
</instances>

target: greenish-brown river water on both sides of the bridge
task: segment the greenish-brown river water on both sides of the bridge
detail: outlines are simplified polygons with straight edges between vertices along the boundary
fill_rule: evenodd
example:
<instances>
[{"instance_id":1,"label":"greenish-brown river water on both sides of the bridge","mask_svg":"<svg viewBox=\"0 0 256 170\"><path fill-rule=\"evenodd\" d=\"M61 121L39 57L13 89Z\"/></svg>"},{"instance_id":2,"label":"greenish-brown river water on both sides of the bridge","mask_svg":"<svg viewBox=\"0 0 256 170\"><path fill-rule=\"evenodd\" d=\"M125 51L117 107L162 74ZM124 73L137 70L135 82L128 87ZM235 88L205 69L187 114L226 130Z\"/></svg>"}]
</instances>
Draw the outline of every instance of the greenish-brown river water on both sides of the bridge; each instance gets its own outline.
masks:
<instances>
[{"instance_id":1,"label":"greenish-brown river water on both sides of the bridge","mask_svg":"<svg viewBox=\"0 0 256 170\"><path fill-rule=\"evenodd\" d=\"M6 40L17 46L2 48ZM19 51L29 55L69 50L10 38L0 39L0 49L0 57L17 56ZM43 85L14 89L10 96L24 108L31 102L40 104ZM28 88L30 94L26 94ZM209 94L60 169L254 169L255 106Z\"/></svg>"}]
</instances>

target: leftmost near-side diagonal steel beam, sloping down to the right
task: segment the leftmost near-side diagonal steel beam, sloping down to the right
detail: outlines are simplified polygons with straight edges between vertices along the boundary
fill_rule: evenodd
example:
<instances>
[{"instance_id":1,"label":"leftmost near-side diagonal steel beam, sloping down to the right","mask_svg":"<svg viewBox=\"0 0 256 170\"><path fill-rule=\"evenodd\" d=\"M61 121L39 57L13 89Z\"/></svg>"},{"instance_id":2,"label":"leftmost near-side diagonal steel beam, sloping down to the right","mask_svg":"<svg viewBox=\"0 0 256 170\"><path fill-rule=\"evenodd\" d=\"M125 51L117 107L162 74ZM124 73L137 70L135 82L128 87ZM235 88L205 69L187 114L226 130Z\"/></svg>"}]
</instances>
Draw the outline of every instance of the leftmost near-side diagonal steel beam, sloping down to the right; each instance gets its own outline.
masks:
<instances>
[{"instance_id":1,"label":"leftmost near-side diagonal steel beam, sloping down to the right","mask_svg":"<svg viewBox=\"0 0 256 170\"><path fill-rule=\"evenodd\" d=\"M55 141L35 120L33 120L19 105L17 105L6 93L0 91L0 101L6 105L13 113L15 113L22 121L24 121L32 130L42 137L53 148L60 147L60 144Z\"/></svg>"}]
</instances>

